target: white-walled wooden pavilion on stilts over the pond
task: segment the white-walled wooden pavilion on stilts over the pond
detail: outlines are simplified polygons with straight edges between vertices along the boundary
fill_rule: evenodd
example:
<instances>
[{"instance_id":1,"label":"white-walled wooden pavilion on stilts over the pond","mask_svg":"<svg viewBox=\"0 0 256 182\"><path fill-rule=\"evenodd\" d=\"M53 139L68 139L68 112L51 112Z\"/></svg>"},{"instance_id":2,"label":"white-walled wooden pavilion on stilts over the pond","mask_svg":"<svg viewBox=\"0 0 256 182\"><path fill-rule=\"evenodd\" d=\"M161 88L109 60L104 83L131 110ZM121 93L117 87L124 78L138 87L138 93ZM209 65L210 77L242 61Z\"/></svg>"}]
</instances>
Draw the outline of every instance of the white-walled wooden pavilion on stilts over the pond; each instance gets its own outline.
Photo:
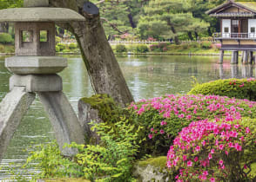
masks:
<instances>
[{"instance_id":1,"label":"white-walled wooden pavilion on stilts over the pond","mask_svg":"<svg viewBox=\"0 0 256 182\"><path fill-rule=\"evenodd\" d=\"M220 63L225 50L232 51L232 63L238 63L239 51L243 51L243 63L252 63L256 51L256 2L229 0L206 14L220 21L220 32L213 35L221 42Z\"/></svg>"}]
</instances>

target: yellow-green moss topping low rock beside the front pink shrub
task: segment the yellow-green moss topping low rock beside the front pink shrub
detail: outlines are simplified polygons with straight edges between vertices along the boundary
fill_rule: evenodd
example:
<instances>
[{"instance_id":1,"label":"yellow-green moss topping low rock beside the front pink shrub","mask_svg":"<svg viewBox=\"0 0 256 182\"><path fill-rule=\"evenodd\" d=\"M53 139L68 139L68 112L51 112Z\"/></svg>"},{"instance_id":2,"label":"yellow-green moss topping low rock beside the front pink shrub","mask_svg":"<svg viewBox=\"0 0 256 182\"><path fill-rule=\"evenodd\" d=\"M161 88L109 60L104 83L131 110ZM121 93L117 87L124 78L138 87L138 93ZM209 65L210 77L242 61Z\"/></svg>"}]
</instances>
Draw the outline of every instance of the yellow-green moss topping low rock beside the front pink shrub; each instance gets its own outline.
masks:
<instances>
[{"instance_id":1,"label":"yellow-green moss topping low rock beside the front pink shrub","mask_svg":"<svg viewBox=\"0 0 256 182\"><path fill-rule=\"evenodd\" d=\"M138 166L146 167L148 165L154 167L160 167L161 169L165 168L166 166L166 156L160 156L157 158L146 159L142 161L138 161Z\"/></svg>"}]
</instances>

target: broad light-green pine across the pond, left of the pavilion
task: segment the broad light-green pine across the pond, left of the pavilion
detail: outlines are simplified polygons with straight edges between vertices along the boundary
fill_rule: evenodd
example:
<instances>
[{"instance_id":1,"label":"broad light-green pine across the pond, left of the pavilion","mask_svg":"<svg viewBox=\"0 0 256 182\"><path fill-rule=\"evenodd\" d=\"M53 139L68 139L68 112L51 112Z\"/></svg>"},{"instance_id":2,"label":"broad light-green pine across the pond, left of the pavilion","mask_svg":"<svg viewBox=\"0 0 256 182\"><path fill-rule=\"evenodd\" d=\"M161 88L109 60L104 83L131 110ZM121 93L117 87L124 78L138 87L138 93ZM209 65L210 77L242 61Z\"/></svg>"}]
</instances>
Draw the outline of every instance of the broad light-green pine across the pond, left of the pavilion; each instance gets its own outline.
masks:
<instances>
[{"instance_id":1,"label":"broad light-green pine across the pond, left of the pavilion","mask_svg":"<svg viewBox=\"0 0 256 182\"><path fill-rule=\"evenodd\" d=\"M200 31L209 26L192 16L191 7L192 3L187 0L151 0L144 8L145 16L139 19L138 32L143 37L173 38L178 44L180 35L188 34L197 26Z\"/></svg>"}]
</instances>

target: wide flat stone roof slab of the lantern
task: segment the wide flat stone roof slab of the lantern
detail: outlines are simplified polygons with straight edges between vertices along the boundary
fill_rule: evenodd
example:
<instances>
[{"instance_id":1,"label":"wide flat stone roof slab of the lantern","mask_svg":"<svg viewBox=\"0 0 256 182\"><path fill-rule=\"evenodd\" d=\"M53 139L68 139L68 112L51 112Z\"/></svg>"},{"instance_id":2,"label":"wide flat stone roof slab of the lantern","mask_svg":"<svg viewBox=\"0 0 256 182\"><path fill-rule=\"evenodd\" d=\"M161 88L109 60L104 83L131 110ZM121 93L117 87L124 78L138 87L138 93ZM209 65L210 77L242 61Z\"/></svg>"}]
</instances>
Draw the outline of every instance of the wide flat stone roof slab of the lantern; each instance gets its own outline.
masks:
<instances>
[{"instance_id":1,"label":"wide flat stone roof slab of the lantern","mask_svg":"<svg viewBox=\"0 0 256 182\"><path fill-rule=\"evenodd\" d=\"M0 22L81 22L81 16L74 10L64 8L13 8L0 10Z\"/></svg>"}]
</instances>

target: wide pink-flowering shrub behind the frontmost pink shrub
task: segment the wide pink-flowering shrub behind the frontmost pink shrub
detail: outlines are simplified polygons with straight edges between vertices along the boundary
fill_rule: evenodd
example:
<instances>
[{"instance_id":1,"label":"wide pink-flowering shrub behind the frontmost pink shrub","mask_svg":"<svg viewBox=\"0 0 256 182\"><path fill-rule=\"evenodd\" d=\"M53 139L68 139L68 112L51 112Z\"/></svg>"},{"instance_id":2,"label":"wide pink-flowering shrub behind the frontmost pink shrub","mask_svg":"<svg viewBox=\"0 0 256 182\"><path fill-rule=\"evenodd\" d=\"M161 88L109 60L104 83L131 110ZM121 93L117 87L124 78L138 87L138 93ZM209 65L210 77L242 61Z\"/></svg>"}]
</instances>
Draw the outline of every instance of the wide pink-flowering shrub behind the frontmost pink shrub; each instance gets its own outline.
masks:
<instances>
[{"instance_id":1,"label":"wide pink-flowering shrub behind the frontmost pink shrub","mask_svg":"<svg viewBox=\"0 0 256 182\"><path fill-rule=\"evenodd\" d=\"M147 136L147 140L140 152L153 154L166 154L172 140L192 121L256 118L256 102L214 95L170 94L132 103L129 109L133 112L133 121L145 128L141 136Z\"/></svg>"}]
</instances>

